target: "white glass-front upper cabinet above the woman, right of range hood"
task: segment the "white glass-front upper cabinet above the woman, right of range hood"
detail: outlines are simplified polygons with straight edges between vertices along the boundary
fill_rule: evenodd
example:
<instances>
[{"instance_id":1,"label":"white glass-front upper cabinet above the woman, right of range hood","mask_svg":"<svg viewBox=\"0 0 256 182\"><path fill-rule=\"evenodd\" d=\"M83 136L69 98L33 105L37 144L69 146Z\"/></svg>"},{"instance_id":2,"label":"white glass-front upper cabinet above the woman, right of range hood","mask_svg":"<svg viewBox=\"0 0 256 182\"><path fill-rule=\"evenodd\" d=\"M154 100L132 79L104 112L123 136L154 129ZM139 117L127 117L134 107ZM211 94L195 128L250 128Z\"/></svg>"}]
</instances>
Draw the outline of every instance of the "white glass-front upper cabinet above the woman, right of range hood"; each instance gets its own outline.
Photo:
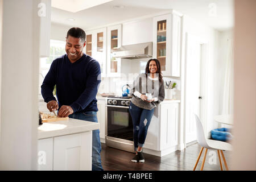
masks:
<instances>
[{"instance_id":1,"label":"white glass-front upper cabinet above the woman, right of range hood","mask_svg":"<svg viewBox=\"0 0 256 182\"><path fill-rule=\"evenodd\" d=\"M153 18L153 58L160 61L163 76L180 76L181 17L167 14Z\"/></svg>"}]
</instances>

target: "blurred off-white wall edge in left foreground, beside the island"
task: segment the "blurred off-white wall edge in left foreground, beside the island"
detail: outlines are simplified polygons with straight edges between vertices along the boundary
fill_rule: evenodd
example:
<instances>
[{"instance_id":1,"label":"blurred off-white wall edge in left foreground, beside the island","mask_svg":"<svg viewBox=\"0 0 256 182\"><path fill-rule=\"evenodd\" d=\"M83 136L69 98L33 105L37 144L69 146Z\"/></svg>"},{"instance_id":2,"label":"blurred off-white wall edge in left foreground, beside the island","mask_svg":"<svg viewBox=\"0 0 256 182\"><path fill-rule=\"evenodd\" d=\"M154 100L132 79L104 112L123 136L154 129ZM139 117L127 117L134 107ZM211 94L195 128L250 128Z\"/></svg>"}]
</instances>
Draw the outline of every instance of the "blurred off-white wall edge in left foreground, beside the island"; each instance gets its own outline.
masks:
<instances>
[{"instance_id":1,"label":"blurred off-white wall edge in left foreground, beside the island","mask_svg":"<svg viewBox=\"0 0 256 182\"><path fill-rule=\"evenodd\" d=\"M4 0L1 10L2 170L37 168L40 38L38 3L38 0Z\"/></svg>"}]
</instances>

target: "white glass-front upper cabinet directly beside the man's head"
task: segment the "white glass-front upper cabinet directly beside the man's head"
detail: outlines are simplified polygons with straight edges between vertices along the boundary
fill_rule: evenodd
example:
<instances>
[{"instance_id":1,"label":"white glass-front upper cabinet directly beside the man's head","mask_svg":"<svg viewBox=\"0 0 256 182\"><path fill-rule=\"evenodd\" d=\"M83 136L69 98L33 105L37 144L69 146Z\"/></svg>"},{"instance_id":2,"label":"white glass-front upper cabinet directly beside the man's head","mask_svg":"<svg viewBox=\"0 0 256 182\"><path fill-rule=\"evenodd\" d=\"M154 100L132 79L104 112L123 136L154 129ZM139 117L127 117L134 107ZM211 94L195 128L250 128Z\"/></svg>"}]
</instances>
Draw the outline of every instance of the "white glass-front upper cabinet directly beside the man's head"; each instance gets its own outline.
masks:
<instances>
[{"instance_id":1,"label":"white glass-front upper cabinet directly beside the man's head","mask_svg":"<svg viewBox=\"0 0 256 182\"><path fill-rule=\"evenodd\" d=\"M86 31L86 55L92 56L101 66L101 77L106 76L106 28Z\"/></svg>"}]
</instances>

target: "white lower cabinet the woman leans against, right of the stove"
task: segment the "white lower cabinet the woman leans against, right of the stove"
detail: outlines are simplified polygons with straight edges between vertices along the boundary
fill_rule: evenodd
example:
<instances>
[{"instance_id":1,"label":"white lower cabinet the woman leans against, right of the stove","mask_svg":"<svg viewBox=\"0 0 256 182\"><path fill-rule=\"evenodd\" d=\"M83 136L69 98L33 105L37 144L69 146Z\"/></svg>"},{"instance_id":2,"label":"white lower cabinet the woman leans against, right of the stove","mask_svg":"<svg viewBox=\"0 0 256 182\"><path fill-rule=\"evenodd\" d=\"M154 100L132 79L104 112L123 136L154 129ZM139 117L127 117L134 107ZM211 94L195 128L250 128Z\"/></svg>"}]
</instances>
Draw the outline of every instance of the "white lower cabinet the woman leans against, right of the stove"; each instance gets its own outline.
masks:
<instances>
[{"instance_id":1,"label":"white lower cabinet the woman leans against, right of the stove","mask_svg":"<svg viewBox=\"0 0 256 182\"><path fill-rule=\"evenodd\" d=\"M154 150L151 154L162 156L175 151L178 144L179 103L163 101L156 109L144 148Z\"/></svg>"}]
</instances>

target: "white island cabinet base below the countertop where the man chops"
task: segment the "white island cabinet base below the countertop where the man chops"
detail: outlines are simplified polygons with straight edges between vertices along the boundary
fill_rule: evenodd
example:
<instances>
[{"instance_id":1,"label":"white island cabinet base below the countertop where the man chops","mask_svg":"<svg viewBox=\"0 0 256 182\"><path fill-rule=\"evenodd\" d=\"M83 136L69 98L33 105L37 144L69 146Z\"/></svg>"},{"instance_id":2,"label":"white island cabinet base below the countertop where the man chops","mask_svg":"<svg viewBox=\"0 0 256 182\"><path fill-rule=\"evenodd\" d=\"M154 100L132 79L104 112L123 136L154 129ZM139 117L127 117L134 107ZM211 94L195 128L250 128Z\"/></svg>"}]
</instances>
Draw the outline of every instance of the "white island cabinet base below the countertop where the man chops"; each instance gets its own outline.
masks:
<instances>
[{"instance_id":1,"label":"white island cabinet base below the countertop where the man chops","mask_svg":"<svg viewBox=\"0 0 256 182\"><path fill-rule=\"evenodd\" d=\"M92 170L92 131L40 139L38 149L39 170Z\"/></svg>"}]
</instances>

